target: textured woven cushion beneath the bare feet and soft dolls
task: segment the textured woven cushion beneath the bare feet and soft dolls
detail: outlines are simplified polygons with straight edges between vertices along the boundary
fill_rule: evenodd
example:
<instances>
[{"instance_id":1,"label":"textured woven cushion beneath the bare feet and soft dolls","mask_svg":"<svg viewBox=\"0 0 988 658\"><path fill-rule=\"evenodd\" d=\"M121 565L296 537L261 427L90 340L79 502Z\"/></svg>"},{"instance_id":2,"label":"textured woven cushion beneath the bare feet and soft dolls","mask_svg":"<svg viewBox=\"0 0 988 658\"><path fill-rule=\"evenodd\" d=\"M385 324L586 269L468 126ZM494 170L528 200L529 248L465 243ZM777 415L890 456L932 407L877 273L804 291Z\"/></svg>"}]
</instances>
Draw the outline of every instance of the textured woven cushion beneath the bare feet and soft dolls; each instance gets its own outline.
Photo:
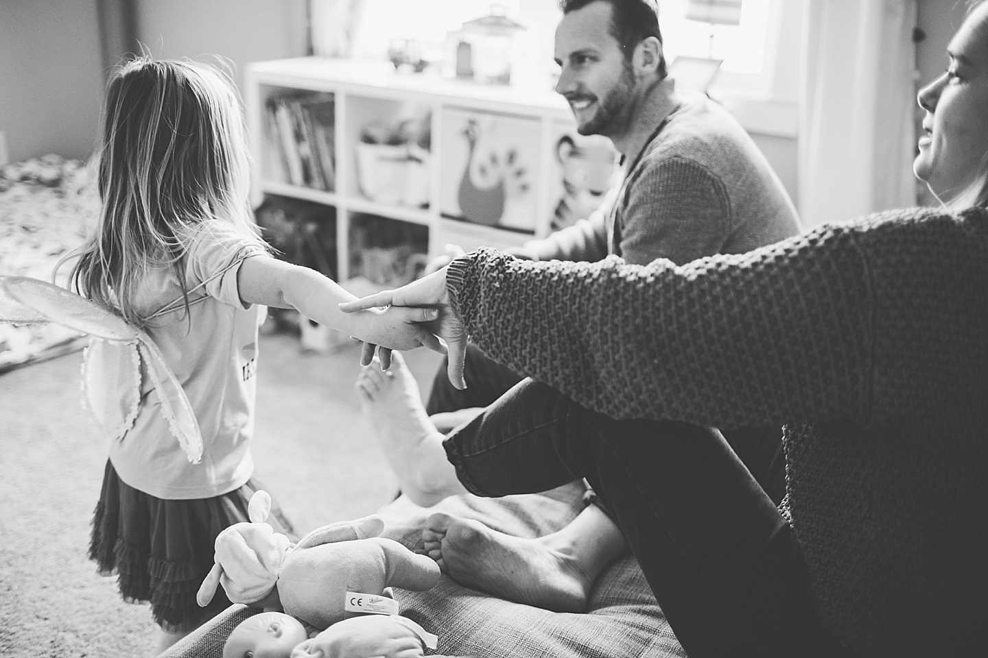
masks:
<instances>
[{"instance_id":1,"label":"textured woven cushion beneath the bare feet and soft dolls","mask_svg":"<svg viewBox=\"0 0 988 658\"><path fill-rule=\"evenodd\" d=\"M442 510L501 532L536 537L558 530L583 508L584 487L571 483L541 494L479 498L453 496L432 508L400 496L384 506L384 537L422 549L425 520ZM655 603L637 562L628 554L594 583L587 612L553 613L461 587L446 575L428 592L395 590L401 614L439 635L440 655L483 658L685 658ZM237 623L257 614L231 606L159 658L219 658Z\"/></svg>"}]
</instances>

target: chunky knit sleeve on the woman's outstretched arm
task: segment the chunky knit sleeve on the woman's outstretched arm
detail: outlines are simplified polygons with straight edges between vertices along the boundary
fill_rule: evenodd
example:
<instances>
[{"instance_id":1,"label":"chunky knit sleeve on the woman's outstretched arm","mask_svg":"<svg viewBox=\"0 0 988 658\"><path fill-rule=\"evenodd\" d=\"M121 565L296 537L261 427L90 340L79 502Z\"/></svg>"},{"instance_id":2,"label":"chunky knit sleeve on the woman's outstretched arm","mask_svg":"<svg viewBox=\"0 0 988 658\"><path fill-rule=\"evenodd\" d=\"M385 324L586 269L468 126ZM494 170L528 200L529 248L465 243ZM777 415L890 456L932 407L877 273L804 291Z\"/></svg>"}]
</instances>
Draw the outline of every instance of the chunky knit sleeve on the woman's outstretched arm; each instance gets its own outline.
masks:
<instances>
[{"instance_id":1,"label":"chunky knit sleeve on the woman's outstretched arm","mask_svg":"<svg viewBox=\"0 0 988 658\"><path fill-rule=\"evenodd\" d=\"M841 227L684 266L480 250L447 280L486 354L613 417L741 427L867 408L868 270Z\"/></svg>"}]
</instances>

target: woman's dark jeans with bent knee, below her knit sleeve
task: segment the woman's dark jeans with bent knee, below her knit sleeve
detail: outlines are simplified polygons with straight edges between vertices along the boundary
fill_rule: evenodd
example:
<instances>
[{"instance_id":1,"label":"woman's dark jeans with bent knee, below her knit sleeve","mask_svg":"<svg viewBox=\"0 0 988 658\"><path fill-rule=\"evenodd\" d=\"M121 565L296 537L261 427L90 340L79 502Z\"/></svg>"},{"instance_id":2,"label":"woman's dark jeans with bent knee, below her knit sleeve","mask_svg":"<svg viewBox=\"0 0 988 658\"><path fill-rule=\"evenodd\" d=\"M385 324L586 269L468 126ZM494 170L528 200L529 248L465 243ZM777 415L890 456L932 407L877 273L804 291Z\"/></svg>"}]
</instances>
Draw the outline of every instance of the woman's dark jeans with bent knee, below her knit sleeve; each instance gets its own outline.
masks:
<instances>
[{"instance_id":1,"label":"woman's dark jeans with bent knee, below her knit sleeve","mask_svg":"<svg viewBox=\"0 0 988 658\"><path fill-rule=\"evenodd\" d=\"M716 429L618 421L525 380L445 445L479 495L586 477L691 658L840 654L814 611L779 491L768 493ZM752 454L763 452L772 451Z\"/></svg>"}]
</instances>

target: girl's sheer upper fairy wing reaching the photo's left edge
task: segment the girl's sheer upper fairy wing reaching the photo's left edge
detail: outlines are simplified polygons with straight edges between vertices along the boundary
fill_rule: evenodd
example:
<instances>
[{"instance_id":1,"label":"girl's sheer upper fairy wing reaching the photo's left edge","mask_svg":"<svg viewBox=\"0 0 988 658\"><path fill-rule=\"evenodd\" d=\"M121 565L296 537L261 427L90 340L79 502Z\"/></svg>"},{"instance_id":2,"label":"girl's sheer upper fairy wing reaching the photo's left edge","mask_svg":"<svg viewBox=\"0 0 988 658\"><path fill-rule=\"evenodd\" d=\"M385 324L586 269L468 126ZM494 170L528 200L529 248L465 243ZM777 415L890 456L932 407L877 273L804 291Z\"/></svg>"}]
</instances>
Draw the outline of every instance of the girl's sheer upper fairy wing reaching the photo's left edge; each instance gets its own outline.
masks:
<instances>
[{"instance_id":1,"label":"girl's sheer upper fairy wing reaching the photo's left edge","mask_svg":"<svg viewBox=\"0 0 988 658\"><path fill-rule=\"evenodd\" d=\"M27 309L27 315L35 318L29 322L46 320L104 340L130 342L137 337L136 329L123 318L53 283L29 276L5 276L0 279L0 287L6 297L17 302L22 309ZM3 318L7 319L6 316Z\"/></svg>"}]
</instances>

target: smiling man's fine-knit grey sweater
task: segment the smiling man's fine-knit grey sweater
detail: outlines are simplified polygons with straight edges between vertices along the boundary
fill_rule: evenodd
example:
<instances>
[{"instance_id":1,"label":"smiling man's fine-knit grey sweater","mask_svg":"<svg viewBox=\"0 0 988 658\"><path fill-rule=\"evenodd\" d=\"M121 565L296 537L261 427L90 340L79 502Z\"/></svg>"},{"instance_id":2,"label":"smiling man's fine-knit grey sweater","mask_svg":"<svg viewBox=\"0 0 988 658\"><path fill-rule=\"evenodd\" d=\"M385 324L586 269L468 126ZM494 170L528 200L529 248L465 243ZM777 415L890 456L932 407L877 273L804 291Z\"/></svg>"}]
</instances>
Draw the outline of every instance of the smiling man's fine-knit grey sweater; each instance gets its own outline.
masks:
<instances>
[{"instance_id":1,"label":"smiling man's fine-knit grey sweater","mask_svg":"<svg viewBox=\"0 0 988 658\"><path fill-rule=\"evenodd\" d=\"M656 129L624 181L588 219L525 249L537 260L645 264L742 254L799 232L795 208L744 128L700 94L652 90L636 121Z\"/></svg>"}]
</instances>

